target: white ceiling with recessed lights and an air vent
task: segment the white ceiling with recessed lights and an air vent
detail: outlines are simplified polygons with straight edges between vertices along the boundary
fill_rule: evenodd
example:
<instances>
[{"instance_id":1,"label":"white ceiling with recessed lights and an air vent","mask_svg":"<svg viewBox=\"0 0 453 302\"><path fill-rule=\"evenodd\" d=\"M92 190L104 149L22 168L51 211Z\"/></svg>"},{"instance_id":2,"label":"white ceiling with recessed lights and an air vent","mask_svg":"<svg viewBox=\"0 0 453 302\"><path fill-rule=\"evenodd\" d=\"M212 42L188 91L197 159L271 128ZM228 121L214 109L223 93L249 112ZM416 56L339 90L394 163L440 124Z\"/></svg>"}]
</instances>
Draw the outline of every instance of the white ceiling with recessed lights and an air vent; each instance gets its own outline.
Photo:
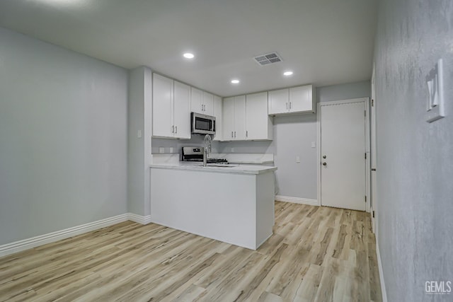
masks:
<instances>
[{"instance_id":1,"label":"white ceiling with recessed lights and an air vent","mask_svg":"<svg viewBox=\"0 0 453 302\"><path fill-rule=\"evenodd\" d=\"M221 96L369 80L376 14L377 0L0 1L1 27ZM268 52L283 61L253 60Z\"/></svg>"}]
</instances>

